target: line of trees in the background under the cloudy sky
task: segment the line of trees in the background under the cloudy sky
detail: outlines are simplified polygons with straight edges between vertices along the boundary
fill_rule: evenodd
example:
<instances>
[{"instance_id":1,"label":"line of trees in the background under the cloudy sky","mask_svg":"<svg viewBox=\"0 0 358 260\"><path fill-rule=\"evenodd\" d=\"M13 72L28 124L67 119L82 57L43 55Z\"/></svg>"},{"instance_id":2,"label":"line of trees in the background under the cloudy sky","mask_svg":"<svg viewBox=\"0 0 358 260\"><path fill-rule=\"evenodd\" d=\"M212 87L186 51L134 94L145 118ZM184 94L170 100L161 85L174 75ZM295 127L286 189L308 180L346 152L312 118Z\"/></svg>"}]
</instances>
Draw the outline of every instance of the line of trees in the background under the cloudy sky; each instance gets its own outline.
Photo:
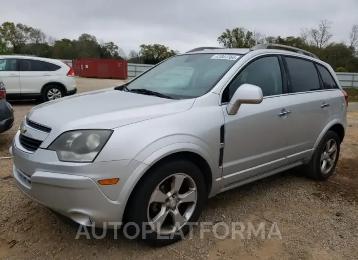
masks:
<instances>
[{"instance_id":1,"label":"line of trees in the background under the cloudy sky","mask_svg":"<svg viewBox=\"0 0 358 260\"><path fill-rule=\"evenodd\" d=\"M358 72L358 25L353 25L347 40L332 42L332 22L321 20L316 27L303 28L300 36L265 36L244 27L226 29L217 41L225 48L251 48L259 43L293 46L316 54L337 72ZM0 54L26 54L55 59L127 59L131 63L156 64L178 54L161 44L142 44L128 55L113 42L98 40L88 33L78 39L54 39L41 29L5 22L0 26Z\"/></svg>"}]
</instances>

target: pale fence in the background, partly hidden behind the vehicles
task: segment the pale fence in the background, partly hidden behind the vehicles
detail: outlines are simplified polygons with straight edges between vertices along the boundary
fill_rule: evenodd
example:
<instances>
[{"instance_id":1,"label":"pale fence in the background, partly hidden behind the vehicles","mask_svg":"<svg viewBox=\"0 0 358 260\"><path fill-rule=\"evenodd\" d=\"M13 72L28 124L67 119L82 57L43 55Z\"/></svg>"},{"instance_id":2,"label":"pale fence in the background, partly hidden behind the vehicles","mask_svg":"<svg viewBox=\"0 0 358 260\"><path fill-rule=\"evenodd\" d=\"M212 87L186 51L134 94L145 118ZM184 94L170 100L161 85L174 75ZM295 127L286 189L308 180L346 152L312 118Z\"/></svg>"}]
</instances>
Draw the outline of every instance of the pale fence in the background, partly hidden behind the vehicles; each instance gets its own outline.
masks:
<instances>
[{"instance_id":1,"label":"pale fence in the background, partly hidden behind the vehicles","mask_svg":"<svg viewBox=\"0 0 358 260\"><path fill-rule=\"evenodd\" d=\"M62 60L72 67L72 60ZM135 64L128 63L128 78L135 78L139 74L153 67L150 64ZM358 88L358 73L343 73L337 72L337 78L342 87Z\"/></svg>"}]
</instances>

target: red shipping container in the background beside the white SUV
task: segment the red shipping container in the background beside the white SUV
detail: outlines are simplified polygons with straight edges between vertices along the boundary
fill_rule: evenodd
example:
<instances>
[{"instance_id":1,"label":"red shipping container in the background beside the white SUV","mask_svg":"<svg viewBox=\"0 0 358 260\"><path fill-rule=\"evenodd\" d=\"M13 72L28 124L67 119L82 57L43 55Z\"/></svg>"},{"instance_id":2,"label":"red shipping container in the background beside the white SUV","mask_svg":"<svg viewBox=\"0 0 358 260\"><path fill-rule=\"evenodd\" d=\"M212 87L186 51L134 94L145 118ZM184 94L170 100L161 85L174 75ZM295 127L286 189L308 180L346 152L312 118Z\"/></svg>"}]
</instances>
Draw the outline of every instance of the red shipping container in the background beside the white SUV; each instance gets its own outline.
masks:
<instances>
[{"instance_id":1,"label":"red shipping container in the background beside the white SUV","mask_svg":"<svg viewBox=\"0 0 358 260\"><path fill-rule=\"evenodd\" d=\"M127 79L128 62L118 59L82 58L81 77Z\"/></svg>"}]
</instances>

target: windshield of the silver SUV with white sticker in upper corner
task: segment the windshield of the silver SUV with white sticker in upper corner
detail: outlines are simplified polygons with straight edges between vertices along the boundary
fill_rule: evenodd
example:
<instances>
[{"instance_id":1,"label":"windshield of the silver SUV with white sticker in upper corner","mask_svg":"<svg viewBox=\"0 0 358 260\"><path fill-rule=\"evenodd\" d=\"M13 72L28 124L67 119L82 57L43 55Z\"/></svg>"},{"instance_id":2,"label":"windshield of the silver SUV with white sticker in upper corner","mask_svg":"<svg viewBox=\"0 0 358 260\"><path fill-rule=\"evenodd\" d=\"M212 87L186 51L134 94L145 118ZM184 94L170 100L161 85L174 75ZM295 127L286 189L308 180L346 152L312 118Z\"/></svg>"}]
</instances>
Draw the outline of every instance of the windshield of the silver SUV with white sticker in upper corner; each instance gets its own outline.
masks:
<instances>
[{"instance_id":1,"label":"windshield of the silver SUV with white sticker in upper corner","mask_svg":"<svg viewBox=\"0 0 358 260\"><path fill-rule=\"evenodd\" d=\"M173 99L197 98L209 92L241 56L213 53L174 56L129 82L127 88L155 91Z\"/></svg>"}]
</instances>

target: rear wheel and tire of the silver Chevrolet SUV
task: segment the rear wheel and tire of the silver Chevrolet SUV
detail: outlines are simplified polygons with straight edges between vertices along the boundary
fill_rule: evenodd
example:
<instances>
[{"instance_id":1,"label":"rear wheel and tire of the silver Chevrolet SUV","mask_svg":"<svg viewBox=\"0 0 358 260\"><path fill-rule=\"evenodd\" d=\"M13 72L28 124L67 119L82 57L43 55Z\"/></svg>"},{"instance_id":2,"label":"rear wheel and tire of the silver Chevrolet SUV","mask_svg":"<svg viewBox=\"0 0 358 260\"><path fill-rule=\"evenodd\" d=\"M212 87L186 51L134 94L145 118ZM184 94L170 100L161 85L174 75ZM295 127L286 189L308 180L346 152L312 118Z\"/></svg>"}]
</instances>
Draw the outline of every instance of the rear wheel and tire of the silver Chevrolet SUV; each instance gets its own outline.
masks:
<instances>
[{"instance_id":1,"label":"rear wheel and tire of the silver Chevrolet SUV","mask_svg":"<svg viewBox=\"0 0 358 260\"><path fill-rule=\"evenodd\" d=\"M326 181L335 170L339 151L340 139L337 133L328 131L305 167L307 176L315 181Z\"/></svg>"}]
</instances>

